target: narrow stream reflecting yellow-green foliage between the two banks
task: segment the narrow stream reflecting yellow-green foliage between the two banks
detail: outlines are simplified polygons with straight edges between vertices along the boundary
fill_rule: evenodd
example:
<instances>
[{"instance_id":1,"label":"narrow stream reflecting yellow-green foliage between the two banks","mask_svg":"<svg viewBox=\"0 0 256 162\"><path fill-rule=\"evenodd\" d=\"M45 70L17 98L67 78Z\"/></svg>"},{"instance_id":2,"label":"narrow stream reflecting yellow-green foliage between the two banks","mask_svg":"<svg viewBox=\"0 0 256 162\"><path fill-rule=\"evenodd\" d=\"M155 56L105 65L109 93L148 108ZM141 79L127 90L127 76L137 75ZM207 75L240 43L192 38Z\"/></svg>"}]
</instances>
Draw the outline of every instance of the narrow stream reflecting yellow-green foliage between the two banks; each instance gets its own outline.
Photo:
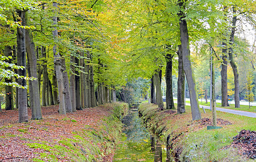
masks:
<instances>
[{"instance_id":1,"label":"narrow stream reflecting yellow-green foliage between the two banks","mask_svg":"<svg viewBox=\"0 0 256 162\"><path fill-rule=\"evenodd\" d=\"M161 144L151 148L151 135L139 118L138 107L131 107L122 122L126 137L118 144L113 161L161 161Z\"/></svg>"}]
</instances>

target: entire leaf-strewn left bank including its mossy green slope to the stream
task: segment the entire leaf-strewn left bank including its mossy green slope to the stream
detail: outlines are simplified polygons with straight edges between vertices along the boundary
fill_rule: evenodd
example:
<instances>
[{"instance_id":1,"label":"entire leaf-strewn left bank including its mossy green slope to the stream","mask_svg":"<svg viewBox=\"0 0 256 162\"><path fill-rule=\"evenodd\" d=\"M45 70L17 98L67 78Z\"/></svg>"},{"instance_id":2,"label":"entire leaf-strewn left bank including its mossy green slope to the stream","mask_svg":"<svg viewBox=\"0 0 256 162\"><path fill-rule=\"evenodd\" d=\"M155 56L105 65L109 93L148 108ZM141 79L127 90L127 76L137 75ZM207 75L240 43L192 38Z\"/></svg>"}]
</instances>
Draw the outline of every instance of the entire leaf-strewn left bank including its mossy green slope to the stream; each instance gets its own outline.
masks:
<instances>
[{"instance_id":1,"label":"entire leaf-strewn left bank including its mossy green slope to the stream","mask_svg":"<svg viewBox=\"0 0 256 162\"><path fill-rule=\"evenodd\" d=\"M42 120L28 123L18 123L18 110L2 111L0 161L111 161L122 129L115 120L125 109L125 104L109 104L64 116L58 106L48 106L42 107Z\"/></svg>"}]
</instances>

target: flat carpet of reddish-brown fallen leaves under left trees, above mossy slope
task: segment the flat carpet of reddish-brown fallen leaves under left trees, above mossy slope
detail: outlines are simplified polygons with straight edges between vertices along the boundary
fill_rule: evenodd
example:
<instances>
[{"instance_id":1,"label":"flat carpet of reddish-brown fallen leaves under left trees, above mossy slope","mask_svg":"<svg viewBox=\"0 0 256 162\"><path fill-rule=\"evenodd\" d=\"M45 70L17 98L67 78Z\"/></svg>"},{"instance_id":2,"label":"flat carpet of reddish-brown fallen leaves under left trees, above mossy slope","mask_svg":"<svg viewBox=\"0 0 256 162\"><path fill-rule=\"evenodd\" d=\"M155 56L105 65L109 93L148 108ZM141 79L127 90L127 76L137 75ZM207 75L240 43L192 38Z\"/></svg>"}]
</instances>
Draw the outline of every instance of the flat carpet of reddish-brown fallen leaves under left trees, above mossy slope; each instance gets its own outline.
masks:
<instances>
[{"instance_id":1,"label":"flat carpet of reddish-brown fallen leaves under left trees, above mossy slope","mask_svg":"<svg viewBox=\"0 0 256 162\"><path fill-rule=\"evenodd\" d=\"M0 161L32 161L45 152L33 149L29 143L55 145L59 140L72 138L84 126L98 130L100 120L109 114L111 107L93 107L64 115L58 114L58 106L42 107L42 120L18 123L18 110L0 113ZM28 109L29 119L31 109Z\"/></svg>"}]
</instances>

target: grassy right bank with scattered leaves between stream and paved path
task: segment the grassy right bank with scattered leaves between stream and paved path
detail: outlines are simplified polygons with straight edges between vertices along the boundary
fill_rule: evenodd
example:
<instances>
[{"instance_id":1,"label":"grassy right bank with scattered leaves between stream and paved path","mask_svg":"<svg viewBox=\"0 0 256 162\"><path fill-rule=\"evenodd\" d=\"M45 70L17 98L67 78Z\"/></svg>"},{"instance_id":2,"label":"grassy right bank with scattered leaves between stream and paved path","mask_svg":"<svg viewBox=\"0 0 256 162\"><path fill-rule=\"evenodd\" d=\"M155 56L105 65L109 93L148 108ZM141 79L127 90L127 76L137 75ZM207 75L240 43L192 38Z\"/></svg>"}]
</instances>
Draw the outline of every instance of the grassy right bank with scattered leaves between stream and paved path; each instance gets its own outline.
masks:
<instances>
[{"instance_id":1,"label":"grassy right bank with scattered leaves between stream and paved path","mask_svg":"<svg viewBox=\"0 0 256 162\"><path fill-rule=\"evenodd\" d=\"M181 161L253 161L242 157L231 145L232 138L241 130L256 130L256 119L235 114L217 112L218 126L223 129L206 130L207 118L211 111L201 111L203 120L192 122L190 106L186 113L176 114L176 110L160 110L157 105L143 103L140 113L145 125L165 144L169 143L172 159ZM228 122L232 125L226 125ZM168 148L167 147L167 148Z\"/></svg>"}]
</instances>

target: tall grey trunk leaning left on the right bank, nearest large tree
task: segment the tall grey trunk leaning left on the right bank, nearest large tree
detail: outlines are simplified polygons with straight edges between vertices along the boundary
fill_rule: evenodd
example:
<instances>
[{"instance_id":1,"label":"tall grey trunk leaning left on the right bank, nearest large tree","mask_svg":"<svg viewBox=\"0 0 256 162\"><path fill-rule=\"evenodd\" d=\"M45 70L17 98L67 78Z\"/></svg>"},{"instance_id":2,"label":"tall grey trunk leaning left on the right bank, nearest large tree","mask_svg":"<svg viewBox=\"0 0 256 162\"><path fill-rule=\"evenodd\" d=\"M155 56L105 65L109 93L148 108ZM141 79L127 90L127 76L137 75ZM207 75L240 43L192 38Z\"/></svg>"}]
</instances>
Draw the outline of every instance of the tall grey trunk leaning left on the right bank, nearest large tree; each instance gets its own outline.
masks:
<instances>
[{"instance_id":1,"label":"tall grey trunk leaning left on the right bank, nearest large tree","mask_svg":"<svg viewBox=\"0 0 256 162\"><path fill-rule=\"evenodd\" d=\"M181 9L185 8L185 2L178 0L179 6ZM182 10L179 11L179 28L180 28L180 41L181 41L181 51L183 55L183 66L185 75L187 78L188 89L190 92L190 105L192 112L192 120L200 120L201 113L199 111L199 102L198 102L198 94L197 94L197 85L196 80L194 78L194 73L192 70L191 57L190 57L190 49L188 42L188 30L187 30L187 22L185 19L185 14Z\"/></svg>"}]
</instances>

